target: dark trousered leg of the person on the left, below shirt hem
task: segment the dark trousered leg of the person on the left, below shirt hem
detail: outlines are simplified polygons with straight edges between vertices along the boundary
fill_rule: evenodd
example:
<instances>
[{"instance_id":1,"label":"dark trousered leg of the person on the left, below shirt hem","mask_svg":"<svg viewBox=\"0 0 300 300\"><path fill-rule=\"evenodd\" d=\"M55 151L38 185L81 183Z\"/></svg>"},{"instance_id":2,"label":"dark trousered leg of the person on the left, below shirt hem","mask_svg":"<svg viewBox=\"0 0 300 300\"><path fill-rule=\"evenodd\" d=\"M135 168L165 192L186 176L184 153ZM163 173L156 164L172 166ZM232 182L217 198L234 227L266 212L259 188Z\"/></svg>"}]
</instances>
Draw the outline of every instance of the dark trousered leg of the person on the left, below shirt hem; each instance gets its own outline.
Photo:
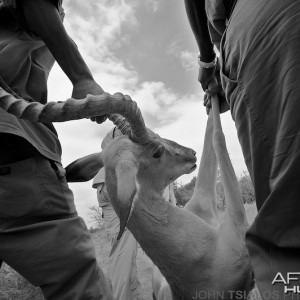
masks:
<instances>
[{"instance_id":1,"label":"dark trousered leg of the person on the left, below shirt hem","mask_svg":"<svg viewBox=\"0 0 300 300\"><path fill-rule=\"evenodd\" d=\"M3 166L1 166L3 167ZM46 299L112 299L64 170L36 154L0 176L0 257Z\"/></svg>"}]
</instances>

